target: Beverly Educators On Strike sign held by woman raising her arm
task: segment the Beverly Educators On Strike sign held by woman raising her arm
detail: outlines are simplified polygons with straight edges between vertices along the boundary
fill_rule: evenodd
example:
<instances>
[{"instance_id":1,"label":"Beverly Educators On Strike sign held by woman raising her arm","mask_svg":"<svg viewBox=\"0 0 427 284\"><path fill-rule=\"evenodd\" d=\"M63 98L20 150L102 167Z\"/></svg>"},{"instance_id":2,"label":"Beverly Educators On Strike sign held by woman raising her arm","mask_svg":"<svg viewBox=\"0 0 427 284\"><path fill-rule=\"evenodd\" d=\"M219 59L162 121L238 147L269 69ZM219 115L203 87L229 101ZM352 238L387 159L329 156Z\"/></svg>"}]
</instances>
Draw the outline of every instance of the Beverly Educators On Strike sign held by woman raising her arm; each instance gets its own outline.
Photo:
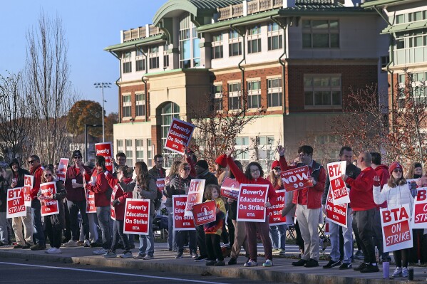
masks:
<instances>
[{"instance_id":1,"label":"Beverly Educators On Strike sign held by woman raising her arm","mask_svg":"<svg viewBox=\"0 0 427 284\"><path fill-rule=\"evenodd\" d=\"M268 184L240 184L237 221L264 222Z\"/></svg>"}]
</instances>

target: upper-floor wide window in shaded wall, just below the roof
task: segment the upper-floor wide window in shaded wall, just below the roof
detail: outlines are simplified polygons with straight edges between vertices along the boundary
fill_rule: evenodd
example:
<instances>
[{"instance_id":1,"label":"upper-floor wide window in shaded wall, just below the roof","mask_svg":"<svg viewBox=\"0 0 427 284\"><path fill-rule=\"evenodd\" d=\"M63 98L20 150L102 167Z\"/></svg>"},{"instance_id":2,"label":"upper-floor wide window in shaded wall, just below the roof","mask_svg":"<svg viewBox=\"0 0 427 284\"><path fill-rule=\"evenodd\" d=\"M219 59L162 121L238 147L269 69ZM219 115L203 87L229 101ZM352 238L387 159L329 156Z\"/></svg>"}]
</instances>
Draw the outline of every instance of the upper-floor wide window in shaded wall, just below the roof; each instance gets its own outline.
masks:
<instances>
[{"instance_id":1,"label":"upper-floor wide window in shaded wall, just below the roof","mask_svg":"<svg viewBox=\"0 0 427 284\"><path fill-rule=\"evenodd\" d=\"M303 48L339 48L338 20L302 20Z\"/></svg>"}]
</instances>

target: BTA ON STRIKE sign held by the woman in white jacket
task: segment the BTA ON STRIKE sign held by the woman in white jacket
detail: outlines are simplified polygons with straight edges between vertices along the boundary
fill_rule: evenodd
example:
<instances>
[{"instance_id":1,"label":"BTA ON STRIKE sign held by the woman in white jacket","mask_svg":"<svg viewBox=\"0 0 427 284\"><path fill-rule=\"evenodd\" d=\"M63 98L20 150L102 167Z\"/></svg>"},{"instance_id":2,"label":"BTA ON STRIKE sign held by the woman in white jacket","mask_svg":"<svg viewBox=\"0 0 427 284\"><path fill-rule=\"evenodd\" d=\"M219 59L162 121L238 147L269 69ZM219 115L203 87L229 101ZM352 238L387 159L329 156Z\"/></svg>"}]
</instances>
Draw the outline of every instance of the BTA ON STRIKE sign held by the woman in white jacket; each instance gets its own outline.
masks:
<instances>
[{"instance_id":1,"label":"BTA ON STRIKE sign held by the woman in white jacket","mask_svg":"<svg viewBox=\"0 0 427 284\"><path fill-rule=\"evenodd\" d=\"M412 248L409 214L411 214L409 204L380 209L384 253Z\"/></svg>"}]
</instances>

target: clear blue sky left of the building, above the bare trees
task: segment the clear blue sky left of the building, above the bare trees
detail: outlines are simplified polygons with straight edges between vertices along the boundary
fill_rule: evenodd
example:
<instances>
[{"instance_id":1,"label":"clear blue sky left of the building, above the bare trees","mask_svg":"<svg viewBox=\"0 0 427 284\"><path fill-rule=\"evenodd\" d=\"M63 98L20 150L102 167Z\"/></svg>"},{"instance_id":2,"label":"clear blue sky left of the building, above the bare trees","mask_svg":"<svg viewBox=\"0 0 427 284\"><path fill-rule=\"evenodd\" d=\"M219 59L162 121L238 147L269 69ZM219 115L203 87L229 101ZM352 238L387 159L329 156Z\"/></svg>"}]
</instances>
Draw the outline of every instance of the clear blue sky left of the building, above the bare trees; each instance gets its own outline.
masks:
<instances>
[{"instance_id":1,"label":"clear blue sky left of the building, above the bare trees","mask_svg":"<svg viewBox=\"0 0 427 284\"><path fill-rule=\"evenodd\" d=\"M103 51L120 43L120 31L152 23L156 11L167 0L13 0L0 7L0 74L17 73L26 59L26 31L36 26L43 10L62 19L68 41L70 80L81 98L101 103L101 89L93 83L109 82L104 89L106 113L118 112L118 60Z\"/></svg>"}]
</instances>

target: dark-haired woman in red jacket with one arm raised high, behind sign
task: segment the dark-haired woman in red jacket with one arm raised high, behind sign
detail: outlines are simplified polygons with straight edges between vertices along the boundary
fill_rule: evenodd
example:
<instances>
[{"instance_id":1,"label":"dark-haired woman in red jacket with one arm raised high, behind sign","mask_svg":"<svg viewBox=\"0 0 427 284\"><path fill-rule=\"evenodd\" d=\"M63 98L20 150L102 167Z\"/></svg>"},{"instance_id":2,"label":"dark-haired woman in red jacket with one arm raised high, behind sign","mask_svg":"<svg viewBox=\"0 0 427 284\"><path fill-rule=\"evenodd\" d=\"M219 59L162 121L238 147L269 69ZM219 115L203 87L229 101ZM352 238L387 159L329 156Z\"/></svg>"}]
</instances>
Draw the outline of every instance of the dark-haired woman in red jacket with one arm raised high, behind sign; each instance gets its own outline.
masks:
<instances>
[{"instance_id":1,"label":"dark-haired woman in red jacket with one arm raised high, behind sign","mask_svg":"<svg viewBox=\"0 0 427 284\"><path fill-rule=\"evenodd\" d=\"M245 170L245 174L235 164L235 161L231 157L231 153L234 151L234 147L227 151L227 164L230 167L230 171L235 175L237 182L240 184L268 184L267 197L273 199L276 197L276 191L274 191L272 183L267 179L262 178L264 171L257 162L250 162ZM272 204L267 201L264 206L269 208ZM265 263L262 264L264 267L270 267L273 265L273 249L272 241L269 237L269 222L268 216L265 216L264 222L246 222L245 223L247 232L247 244L249 247L249 261L245 263L245 267L257 266L257 233L264 246Z\"/></svg>"}]
</instances>

